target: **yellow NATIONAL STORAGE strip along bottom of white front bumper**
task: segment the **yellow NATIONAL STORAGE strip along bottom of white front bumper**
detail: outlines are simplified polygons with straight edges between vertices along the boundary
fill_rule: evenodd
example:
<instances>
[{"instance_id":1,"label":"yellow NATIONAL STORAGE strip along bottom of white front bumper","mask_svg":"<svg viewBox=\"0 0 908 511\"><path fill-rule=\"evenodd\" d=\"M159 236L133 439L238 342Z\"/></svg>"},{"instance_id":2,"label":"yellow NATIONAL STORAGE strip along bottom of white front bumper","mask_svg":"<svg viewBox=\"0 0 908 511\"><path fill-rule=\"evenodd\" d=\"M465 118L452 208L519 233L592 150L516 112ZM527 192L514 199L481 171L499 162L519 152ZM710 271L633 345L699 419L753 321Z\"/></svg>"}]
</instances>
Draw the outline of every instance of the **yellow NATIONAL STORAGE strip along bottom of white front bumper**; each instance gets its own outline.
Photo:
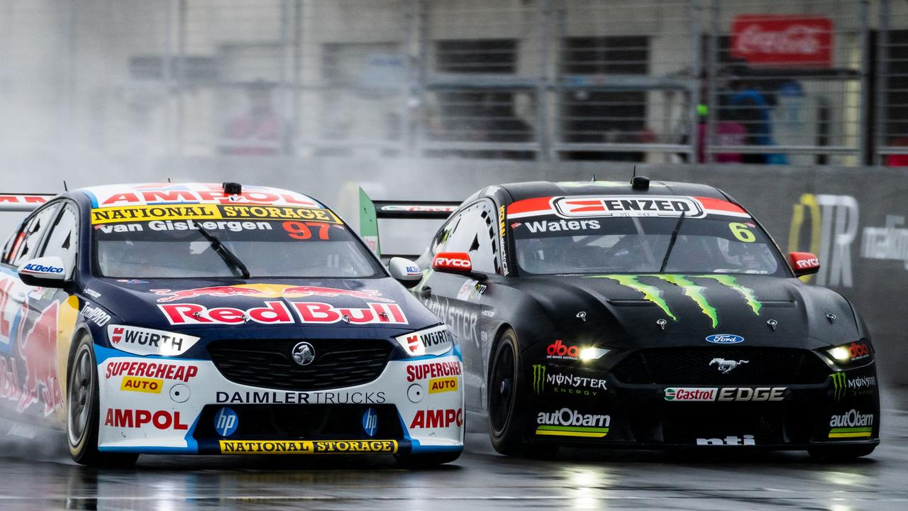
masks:
<instances>
[{"instance_id":1,"label":"yellow NATIONAL STORAGE strip along bottom of white front bumper","mask_svg":"<svg viewBox=\"0 0 908 511\"><path fill-rule=\"evenodd\" d=\"M225 455L394 454L397 440L221 440Z\"/></svg>"}]
</instances>

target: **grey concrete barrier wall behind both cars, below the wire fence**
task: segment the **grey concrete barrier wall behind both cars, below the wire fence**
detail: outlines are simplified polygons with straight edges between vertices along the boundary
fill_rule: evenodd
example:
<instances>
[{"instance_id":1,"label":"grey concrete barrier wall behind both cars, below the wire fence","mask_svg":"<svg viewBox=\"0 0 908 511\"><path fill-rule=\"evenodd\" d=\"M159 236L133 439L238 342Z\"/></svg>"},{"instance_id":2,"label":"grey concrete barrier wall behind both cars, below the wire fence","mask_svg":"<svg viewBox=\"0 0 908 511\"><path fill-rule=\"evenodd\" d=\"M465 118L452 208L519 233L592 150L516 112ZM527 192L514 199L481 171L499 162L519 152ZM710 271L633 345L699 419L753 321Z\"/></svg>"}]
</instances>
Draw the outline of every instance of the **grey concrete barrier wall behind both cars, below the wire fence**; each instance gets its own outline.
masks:
<instances>
[{"instance_id":1,"label":"grey concrete barrier wall behind both cars, below the wire fence","mask_svg":"<svg viewBox=\"0 0 908 511\"><path fill-rule=\"evenodd\" d=\"M637 165L653 179L715 185L747 207L783 251L811 251L823 270L812 283L852 300L879 352L881 375L908 384L908 175L874 167ZM314 195L355 220L357 186L379 199L459 200L484 185L531 180L629 179L631 166L481 160L350 160L341 158L184 158L75 170L30 170L25 192L103 183L227 180L283 186ZM21 177L0 175L0 191L20 191ZM6 226L6 225L4 225ZM408 233L425 245L431 232Z\"/></svg>"}]
</instances>

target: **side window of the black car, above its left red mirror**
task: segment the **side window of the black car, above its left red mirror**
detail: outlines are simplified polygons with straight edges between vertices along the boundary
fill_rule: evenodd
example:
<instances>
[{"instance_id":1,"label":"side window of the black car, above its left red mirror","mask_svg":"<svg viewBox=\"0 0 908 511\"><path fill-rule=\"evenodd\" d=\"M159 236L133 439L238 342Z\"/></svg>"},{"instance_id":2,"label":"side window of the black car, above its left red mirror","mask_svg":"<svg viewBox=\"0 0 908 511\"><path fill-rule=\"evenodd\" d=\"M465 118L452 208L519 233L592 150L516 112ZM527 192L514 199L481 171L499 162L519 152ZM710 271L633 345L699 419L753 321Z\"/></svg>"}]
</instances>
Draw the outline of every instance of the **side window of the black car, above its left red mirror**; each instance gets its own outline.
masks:
<instances>
[{"instance_id":1,"label":"side window of the black car, above its left red mirror","mask_svg":"<svg viewBox=\"0 0 908 511\"><path fill-rule=\"evenodd\" d=\"M468 206L449 223L445 235L445 252L466 252L473 269L483 273L498 272L498 245L495 243L495 213L487 201Z\"/></svg>"}]
</instances>

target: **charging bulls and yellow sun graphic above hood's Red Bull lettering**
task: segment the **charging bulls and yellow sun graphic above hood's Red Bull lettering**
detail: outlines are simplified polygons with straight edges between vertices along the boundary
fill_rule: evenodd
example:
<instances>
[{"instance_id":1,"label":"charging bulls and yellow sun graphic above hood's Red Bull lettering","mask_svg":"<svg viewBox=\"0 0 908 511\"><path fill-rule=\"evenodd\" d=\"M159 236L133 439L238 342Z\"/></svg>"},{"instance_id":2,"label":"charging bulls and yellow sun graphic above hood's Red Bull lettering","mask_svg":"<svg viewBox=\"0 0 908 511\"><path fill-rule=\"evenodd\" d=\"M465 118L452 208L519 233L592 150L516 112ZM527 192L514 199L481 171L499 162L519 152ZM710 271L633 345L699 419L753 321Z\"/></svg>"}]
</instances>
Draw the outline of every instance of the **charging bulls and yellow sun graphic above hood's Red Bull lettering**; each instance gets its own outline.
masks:
<instances>
[{"instance_id":1,"label":"charging bulls and yellow sun graphic above hood's Red Bull lettering","mask_svg":"<svg viewBox=\"0 0 908 511\"><path fill-rule=\"evenodd\" d=\"M308 296L350 296L360 300L393 303L389 298L381 297L375 289L337 289L320 286L288 286L285 284L240 284L237 286L198 287L172 291L170 289L152 289L152 292L163 298L158 302L174 302L199 296L251 296L254 298L305 298Z\"/></svg>"}]
</instances>

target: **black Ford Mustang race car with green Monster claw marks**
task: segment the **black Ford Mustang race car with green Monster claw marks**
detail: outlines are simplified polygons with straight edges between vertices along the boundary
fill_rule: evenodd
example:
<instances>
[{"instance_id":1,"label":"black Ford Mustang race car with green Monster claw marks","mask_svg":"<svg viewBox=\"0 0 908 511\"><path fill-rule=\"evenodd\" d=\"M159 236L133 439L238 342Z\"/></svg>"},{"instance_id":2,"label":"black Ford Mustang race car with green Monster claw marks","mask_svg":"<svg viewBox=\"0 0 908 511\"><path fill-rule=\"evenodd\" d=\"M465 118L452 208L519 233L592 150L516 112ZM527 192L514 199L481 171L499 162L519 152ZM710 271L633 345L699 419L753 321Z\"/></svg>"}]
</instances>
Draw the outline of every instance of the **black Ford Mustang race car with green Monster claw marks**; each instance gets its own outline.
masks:
<instances>
[{"instance_id":1,"label":"black Ford Mustang race car with green Monster claw marks","mask_svg":"<svg viewBox=\"0 0 908 511\"><path fill-rule=\"evenodd\" d=\"M392 260L392 263L394 261ZM879 443L874 351L843 296L810 286L706 185L489 186L411 266L459 338L493 446L807 450Z\"/></svg>"}]
</instances>

